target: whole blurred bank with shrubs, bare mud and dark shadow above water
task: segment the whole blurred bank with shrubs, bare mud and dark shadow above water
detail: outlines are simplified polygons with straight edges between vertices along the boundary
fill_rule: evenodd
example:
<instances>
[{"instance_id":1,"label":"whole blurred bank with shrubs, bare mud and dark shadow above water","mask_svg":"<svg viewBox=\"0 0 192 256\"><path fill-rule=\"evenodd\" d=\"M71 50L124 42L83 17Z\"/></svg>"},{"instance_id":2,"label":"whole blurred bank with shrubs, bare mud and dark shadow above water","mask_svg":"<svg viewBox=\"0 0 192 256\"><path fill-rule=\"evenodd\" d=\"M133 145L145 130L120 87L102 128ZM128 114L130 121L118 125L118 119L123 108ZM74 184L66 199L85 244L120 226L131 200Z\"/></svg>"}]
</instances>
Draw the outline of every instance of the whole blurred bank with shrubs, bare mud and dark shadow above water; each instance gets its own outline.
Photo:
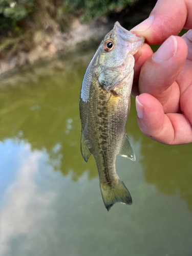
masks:
<instances>
[{"instance_id":1,"label":"whole blurred bank with shrubs, bare mud and dark shadow above water","mask_svg":"<svg viewBox=\"0 0 192 256\"><path fill-rule=\"evenodd\" d=\"M156 0L0 0L0 73L98 44L116 20L132 28Z\"/></svg>"}]
</instances>

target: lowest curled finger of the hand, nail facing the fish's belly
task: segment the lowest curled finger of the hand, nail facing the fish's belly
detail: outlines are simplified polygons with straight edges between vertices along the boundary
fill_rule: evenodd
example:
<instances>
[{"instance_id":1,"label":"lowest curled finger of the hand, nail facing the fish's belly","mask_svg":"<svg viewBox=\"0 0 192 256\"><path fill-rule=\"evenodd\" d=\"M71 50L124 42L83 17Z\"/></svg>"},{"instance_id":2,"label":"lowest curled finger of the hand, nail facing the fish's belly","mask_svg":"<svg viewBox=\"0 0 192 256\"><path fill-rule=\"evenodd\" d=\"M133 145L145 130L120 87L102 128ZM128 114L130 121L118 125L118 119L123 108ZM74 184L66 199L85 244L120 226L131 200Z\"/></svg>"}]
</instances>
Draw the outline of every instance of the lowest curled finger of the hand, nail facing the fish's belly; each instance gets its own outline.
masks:
<instances>
[{"instance_id":1,"label":"lowest curled finger of the hand, nail facing the fish's belly","mask_svg":"<svg viewBox=\"0 0 192 256\"><path fill-rule=\"evenodd\" d=\"M192 142L192 129L183 114L164 114L160 102L149 94L136 97L137 122L147 137L168 145Z\"/></svg>"}]
</instances>

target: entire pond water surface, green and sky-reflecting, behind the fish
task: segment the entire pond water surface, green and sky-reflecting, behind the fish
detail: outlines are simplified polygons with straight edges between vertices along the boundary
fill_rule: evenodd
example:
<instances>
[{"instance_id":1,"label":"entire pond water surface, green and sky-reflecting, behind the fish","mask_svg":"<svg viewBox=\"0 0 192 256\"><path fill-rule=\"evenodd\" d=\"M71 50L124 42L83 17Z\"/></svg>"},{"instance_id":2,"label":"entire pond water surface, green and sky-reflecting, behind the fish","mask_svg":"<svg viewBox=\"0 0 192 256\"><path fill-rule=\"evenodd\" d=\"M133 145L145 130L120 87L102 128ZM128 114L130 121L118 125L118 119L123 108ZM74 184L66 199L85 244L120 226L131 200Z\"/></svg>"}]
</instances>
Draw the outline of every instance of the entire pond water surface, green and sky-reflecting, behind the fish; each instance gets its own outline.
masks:
<instances>
[{"instance_id":1,"label":"entire pond water surface, green and sky-reflecting, behind the fish","mask_svg":"<svg viewBox=\"0 0 192 256\"><path fill-rule=\"evenodd\" d=\"M80 153L79 93L94 50L1 81L1 256L192 255L191 144L127 134L136 162L117 157L133 205L106 211L93 156Z\"/></svg>"}]
</instances>

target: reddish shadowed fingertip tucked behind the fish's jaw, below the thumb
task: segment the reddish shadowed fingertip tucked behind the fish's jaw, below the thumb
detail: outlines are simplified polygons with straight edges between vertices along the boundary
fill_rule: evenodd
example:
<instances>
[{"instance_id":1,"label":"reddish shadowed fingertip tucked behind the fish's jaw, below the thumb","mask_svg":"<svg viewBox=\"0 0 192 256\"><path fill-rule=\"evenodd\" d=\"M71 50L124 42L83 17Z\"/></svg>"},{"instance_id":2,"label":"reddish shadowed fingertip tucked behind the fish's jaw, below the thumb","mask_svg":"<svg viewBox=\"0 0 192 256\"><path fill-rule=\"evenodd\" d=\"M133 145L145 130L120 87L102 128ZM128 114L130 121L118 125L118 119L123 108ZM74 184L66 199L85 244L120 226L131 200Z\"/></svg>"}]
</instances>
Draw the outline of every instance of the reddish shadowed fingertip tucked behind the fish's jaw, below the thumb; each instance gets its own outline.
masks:
<instances>
[{"instance_id":1,"label":"reddish shadowed fingertip tucked behind the fish's jaw, below the thumb","mask_svg":"<svg viewBox=\"0 0 192 256\"><path fill-rule=\"evenodd\" d=\"M141 71L141 67L144 62L153 54L153 51L150 46L144 44L142 48L134 55L135 65L134 65L134 80L133 80L133 88L132 88L132 96L135 98L139 95L139 74Z\"/></svg>"}]
</instances>

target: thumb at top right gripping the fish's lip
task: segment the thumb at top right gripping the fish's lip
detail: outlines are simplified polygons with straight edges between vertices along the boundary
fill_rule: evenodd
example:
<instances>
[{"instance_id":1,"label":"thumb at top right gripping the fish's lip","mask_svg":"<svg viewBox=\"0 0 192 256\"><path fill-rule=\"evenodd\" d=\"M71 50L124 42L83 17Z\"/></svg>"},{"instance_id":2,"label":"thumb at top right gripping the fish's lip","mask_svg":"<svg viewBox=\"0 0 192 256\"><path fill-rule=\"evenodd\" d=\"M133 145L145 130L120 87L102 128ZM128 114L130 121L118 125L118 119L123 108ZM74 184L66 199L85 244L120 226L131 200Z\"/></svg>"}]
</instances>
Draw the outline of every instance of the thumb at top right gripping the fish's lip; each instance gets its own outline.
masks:
<instances>
[{"instance_id":1,"label":"thumb at top right gripping the fish's lip","mask_svg":"<svg viewBox=\"0 0 192 256\"><path fill-rule=\"evenodd\" d=\"M150 17L131 31L144 36L148 44L156 45L170 35L178 35L183 27L192 28L192 1L158 0Z\"/></svg>"}]
</instances>

